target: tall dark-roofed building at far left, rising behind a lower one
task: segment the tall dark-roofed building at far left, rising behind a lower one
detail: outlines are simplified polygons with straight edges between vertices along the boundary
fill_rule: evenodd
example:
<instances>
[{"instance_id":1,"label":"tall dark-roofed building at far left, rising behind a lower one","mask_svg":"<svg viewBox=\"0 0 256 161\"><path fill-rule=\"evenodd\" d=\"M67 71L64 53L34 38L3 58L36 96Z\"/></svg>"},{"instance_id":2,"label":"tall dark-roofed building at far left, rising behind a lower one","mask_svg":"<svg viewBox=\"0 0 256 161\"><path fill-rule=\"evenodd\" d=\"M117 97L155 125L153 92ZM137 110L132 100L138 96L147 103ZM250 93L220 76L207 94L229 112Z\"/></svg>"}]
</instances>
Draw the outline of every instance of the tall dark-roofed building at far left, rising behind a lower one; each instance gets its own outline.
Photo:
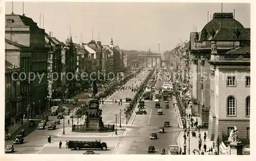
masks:
<instances>
[{"instance_id":1,"label":"tall dark-roofed building at far left, rising behind a lower one","mask_svg":"<svg viewBox=\"0 0 256 161\"><path fill-rule=\"evenodd\" d=\"M40 29L32 18L25 15L7 14L5 16L5 38L11 42L26 46L26 57L20 57L20 69L28 75L29 72L36 73L30 85L24 86L30 95L29 109L34 116L42 110L42 101L47 96L47 53L49 48L45 47L45 30ZM14 53L14 51L13 51ZM29 82L26 79L25 82ZM29 101L28 101L29 103Z\"/></svg>"}]
</instances>

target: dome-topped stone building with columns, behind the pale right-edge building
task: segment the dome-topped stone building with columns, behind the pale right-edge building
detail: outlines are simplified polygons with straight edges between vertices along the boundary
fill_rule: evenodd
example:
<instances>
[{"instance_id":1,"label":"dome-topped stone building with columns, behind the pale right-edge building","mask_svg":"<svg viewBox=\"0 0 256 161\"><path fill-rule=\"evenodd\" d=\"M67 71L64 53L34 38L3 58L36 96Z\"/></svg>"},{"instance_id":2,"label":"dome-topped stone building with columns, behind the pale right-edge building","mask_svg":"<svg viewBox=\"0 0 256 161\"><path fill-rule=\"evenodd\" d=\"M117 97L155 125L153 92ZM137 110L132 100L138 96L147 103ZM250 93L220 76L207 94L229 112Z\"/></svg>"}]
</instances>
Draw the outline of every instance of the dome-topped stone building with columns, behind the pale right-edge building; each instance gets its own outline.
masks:
<instances>
[{"instance_id":1,"label":"dome-topped stone building with columns, behind the pale right-edge building","mask_svg":"<svg viewBox=\"0 0 256 161\"><path fill-rule=\"evenodd\" d=\"M190 65L192 73L190 77L190 87L192 86L190 89L192 94L191 108L194 116L199 115L201 117L202 123L208 123L212 120L209 119L212 107L210 105L210 64L208 63L212 49L217 46L215 49L221 55L230 49L249 46L249 35L250 29L245 29L240 22L233 18L232 13L215 13L212 20L204 26L201 32L190 33L190 58L193 62ZM232 119L236 120L235 118ZM216 138L216 136L212 136L212 133L209 137L211 140Z\"/></svg>"}]
</instances>

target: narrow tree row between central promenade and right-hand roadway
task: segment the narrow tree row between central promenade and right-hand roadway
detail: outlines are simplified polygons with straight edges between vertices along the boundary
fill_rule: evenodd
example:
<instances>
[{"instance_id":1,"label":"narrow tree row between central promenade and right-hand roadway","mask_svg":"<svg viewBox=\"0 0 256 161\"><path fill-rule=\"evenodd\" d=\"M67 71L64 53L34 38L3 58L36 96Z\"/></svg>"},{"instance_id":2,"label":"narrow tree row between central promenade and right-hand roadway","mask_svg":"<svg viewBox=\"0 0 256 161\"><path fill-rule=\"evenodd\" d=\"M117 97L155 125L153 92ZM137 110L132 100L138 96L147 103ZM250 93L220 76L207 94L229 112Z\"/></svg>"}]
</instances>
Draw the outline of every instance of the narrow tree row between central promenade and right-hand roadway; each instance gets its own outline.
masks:
<instances>
[{"instance_id":1,"label":"narrow tree row between central promenade and right-hand roadway","mask_svg":"<svg viewBox=\"0 0 256 161\"><path fill-rule=\"evenodd\" d=\"M130 104L128 106L126 106L126 108L124 109L124 114L125 114L126 118L130 119L130 117L135 109L135 106L136 106L138 100L142 97L145 87L147 85L147 82L150 81L150 78L154 74L154 71L155 71L155 67L147 75L146 79L144 79L142 85L138 88L138 92L136 92L136 94L135 94L134 98L132 99L132 101L130 102Z\"/></svg>"}]
</instances>

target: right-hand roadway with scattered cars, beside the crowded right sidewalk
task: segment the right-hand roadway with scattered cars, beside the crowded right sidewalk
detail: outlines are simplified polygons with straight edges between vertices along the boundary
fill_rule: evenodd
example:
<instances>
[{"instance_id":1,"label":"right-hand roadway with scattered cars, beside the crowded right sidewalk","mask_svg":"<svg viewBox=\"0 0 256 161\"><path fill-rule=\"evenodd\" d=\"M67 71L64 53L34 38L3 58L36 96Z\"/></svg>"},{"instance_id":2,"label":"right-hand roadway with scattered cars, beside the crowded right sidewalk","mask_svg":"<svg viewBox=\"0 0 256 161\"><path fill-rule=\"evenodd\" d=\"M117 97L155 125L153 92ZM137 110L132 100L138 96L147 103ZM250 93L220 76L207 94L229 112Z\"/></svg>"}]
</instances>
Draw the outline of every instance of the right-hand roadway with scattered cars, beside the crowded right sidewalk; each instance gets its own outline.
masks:
<instances>
[{"instance_id":1,"label":"right-hand roadway with scattered cars, beside the crowded right sidewalk","mask_svg":"<svg viewBox=\"0 0 256 161\"><path fill-rule=\"evenodd\" d=\"M162 83L163 81L158 81L157 88L160 88ZM154 101L146 101L145 104L147 115L137 115L132 126L126 127L115 154L148 154L148 144L156 147L156 152L151 154L160 154L163 147L167 150L168 145L177 145L177 138L182 129L178 127L173 102L169 100L170 108L165 109L164 102L160 101L162 116L157 115L158 109L155 108ZM164 121L170 121L172 127L165 127L165 133L159 133L158 128L163 126ZM151 132L157 132L157 140L150 140Z\"/></svg>"}]
</instances>

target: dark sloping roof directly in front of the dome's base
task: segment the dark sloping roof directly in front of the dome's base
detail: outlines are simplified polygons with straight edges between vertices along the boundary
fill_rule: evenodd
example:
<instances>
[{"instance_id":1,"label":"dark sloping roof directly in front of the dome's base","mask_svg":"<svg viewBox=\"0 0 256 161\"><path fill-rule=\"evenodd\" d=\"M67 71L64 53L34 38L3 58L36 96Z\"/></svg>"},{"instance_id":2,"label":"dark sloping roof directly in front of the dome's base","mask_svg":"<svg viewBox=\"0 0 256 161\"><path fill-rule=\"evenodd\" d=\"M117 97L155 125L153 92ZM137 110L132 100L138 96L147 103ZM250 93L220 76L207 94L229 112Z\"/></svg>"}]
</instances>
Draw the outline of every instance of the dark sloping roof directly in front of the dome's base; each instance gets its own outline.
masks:
<instances>
[{"instance_id":1,"label":"dark sloping roof directly in front of the dome's base","mask_svg":"<svg viewBox=\"0 0 256 161\"><path fill-rule=\"evenodd\" d=\"M234 33L234 37L233 37L233 33ZM208 40L250 41L250 33L251 33L251 30L249 28L235 29L235 30L222 28L222 29L216 31L216 34L214 37L210 36L208 38Z\"/></svg>"}]
</instances>

